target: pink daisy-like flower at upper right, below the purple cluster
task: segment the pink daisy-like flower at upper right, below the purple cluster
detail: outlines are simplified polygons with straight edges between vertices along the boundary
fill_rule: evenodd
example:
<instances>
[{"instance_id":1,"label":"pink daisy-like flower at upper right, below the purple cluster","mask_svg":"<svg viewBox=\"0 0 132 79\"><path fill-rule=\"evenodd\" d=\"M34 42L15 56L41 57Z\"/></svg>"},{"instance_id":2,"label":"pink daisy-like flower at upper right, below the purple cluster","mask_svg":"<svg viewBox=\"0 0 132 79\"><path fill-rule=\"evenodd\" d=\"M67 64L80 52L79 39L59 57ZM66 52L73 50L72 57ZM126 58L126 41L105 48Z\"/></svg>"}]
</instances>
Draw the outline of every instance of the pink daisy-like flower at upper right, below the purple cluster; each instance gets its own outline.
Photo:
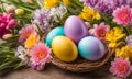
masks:
<instances>
[{"instance_id":1,"label":"pink daisy-like flower at upper right, below the purple cluster","mask_svg":"<svg viewBox=\"0 0 132 79\"><path fill-rule=\"evenodd\" d=\"M112 15L114 16L113 21L118 24L122 24L124 26L132 24L132 9L129 5L118 8L113 11Z\"/></svg>"}]
</instances>

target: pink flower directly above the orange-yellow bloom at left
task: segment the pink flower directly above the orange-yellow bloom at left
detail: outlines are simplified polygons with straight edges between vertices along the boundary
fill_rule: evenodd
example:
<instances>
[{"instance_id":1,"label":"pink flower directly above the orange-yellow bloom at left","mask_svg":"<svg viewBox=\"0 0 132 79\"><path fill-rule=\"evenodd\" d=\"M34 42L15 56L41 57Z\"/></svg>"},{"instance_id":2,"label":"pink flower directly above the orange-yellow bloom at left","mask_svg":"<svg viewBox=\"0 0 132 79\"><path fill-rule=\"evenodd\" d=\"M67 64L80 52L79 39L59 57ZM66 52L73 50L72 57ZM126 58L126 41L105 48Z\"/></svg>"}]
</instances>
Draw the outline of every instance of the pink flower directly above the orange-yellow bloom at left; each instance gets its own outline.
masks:
<instances>
[{"instance_id":1,"label":"pink flower directly above the orange-yellow bloom at left","mask_svg":"<svg viewBox=\"0 0 132 79\"><path fill-rule=\"evenodd\" d=\"M25 25L19 32L20 33L19 42L23 43L34 32L35 32L35 29L32 25Z\"/></svg>"}]
</instances>

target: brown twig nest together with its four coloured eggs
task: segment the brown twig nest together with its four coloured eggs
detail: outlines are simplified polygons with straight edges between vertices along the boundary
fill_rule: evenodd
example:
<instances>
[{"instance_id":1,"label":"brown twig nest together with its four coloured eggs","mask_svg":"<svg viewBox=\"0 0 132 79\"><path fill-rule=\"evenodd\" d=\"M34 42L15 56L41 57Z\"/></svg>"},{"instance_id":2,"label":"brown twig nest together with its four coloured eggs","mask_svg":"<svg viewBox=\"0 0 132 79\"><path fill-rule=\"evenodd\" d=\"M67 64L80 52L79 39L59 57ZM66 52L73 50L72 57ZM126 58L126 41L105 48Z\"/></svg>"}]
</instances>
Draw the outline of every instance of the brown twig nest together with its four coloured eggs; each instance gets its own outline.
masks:
<instances>
[{"instance_id":1,"label":"brown twig nest together with its four coloured eggs","mask_svg":"<svg viewBox=\"0 0 132 79\"><path fill-rule=\"evenodd\" d=\"M44 34L43 40L53 50L52 64L75 72L98 69L113 54L106 42L89 36L84 21L75 15L69 16L64 26L57 26Z\"/></svg>"}]
</instances>

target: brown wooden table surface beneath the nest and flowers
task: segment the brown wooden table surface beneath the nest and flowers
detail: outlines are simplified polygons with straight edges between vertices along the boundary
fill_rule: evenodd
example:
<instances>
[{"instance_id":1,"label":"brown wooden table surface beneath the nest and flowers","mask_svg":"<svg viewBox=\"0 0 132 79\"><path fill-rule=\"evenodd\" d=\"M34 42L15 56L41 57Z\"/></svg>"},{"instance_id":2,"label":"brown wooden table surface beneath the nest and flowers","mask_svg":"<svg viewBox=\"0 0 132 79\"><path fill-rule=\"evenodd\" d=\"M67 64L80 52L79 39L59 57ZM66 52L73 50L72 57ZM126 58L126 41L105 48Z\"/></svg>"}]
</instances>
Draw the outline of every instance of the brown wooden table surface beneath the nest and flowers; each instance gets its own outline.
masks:
<instances>
[{"instance_id":1,"label":"brown wooden table surface beneath the nest and flowers","mask_svg":"<svg viewBox=\"0 0 132 79\"><path fill-rule=\"evenodd\" d=\"M131 75L132 76L132 75ZM76 74L59 69L53 65L44 71L36 71L31 68L10 71L0 79L120 79L112 76L109 69L98 69L86 74ZM128 79L132 79L129 77Z\"/></svg>"}]
</instances>

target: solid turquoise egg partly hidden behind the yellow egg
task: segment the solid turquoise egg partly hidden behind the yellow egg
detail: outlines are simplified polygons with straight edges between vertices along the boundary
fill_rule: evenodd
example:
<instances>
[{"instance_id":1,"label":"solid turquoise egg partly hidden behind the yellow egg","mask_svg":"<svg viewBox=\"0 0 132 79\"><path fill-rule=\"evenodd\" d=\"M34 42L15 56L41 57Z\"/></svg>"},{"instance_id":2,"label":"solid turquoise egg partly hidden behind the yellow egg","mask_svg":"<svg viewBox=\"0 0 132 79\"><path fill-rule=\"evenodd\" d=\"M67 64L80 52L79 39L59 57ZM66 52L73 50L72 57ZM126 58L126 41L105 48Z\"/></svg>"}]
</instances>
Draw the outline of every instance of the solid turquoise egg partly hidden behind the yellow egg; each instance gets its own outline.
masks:
<instances>
[{"instance_id":1,"label":"solid turquoise egg partly hidden behind the yellow egg","mask_svg":"<svg viewBox=\"0 0 132 79\"><path fill-rule=\"evenodd\" d=\"M58 27L53 29L53 30L46 35L45 43L51 47L51 44L52 44L53 38L54 38L55 36L58 36L58 35L64 35L64 27L63 27L63 26L58 26Z\"/></svg>"}]
</instances>

